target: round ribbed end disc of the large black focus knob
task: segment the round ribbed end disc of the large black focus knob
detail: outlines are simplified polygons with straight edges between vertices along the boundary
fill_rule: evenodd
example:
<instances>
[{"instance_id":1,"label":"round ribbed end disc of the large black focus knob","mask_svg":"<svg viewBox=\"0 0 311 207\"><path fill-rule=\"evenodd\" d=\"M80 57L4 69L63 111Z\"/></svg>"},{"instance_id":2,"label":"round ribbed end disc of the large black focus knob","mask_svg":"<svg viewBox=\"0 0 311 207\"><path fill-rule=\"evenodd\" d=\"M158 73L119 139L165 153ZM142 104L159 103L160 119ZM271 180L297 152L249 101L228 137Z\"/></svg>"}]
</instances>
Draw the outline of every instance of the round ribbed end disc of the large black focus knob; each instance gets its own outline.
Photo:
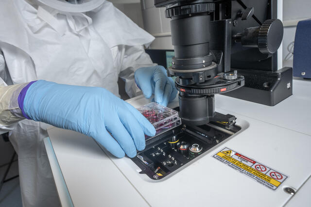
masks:
<instances>
[{"instance_id":1,"label":"round ribbed end disc of the large black focus knob","mask_svg":"<svg viewBox=\"0 0 311 207\"><path fill-rule=\"evenodd\" d=\"M283 24L279 19L268 19L261 25L258 48L261 53L275 53L283 39Z\"/></svg>"}]
</instances>

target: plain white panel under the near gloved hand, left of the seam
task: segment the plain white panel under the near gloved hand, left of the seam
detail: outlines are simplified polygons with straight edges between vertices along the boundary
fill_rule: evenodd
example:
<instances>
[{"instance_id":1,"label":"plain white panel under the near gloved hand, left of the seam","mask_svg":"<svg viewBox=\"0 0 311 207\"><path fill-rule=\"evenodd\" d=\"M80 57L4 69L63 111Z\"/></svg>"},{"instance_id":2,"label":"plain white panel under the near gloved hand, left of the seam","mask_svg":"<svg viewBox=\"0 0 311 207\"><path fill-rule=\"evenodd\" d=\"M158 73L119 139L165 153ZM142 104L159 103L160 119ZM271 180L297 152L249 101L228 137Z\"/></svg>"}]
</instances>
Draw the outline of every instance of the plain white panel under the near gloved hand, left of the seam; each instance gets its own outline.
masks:
<instances>
[{"instance_id":1,"label":"plain white panel under the near gloved hand, left of the seam","mask_svg":"<svg viewBox=\"0 0 311 207\"><path fill-rule=\"evenodd\" d=\"M93 139L59 128L48 133L75 207L148 206Z\"/></svg>"}]
</instances>

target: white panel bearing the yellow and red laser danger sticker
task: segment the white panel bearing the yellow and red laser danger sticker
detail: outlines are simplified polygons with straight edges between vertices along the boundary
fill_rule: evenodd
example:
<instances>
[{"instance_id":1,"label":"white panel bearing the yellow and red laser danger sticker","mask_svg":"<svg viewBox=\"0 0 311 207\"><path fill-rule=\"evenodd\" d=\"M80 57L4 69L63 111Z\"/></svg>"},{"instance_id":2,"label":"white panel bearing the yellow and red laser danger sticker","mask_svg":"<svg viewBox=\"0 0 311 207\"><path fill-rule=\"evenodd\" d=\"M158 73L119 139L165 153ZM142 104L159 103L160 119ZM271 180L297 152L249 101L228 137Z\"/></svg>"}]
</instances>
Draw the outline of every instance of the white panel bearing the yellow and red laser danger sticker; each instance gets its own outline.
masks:
<instances>
[{"instance_id":1,"label":"white panel bearing the yellow and red laser danger sticker","mask_svg":"<svg viewBox=\"0 0 311 207\"><path fill-rule=\"evenodd\" d=\"M112 160L123 173L126 172L128 179L151 206L165 206L167 203L172 206L246 206L250 203L254 207L284 205L291 195L282 188L291 186L298 189L311 174L309 158L301 156L302 151L309 149L311 136L242 115L238 117L238 124L241 119L250 124L245 131L164 181L154 182L146 175L138 174L138 167L129 159ZM225 146L265 163L289 177L276 191L272 191L211 158ZM169 192L169 196L159 199L163 192Z\"/></svg>"}]
</instances>

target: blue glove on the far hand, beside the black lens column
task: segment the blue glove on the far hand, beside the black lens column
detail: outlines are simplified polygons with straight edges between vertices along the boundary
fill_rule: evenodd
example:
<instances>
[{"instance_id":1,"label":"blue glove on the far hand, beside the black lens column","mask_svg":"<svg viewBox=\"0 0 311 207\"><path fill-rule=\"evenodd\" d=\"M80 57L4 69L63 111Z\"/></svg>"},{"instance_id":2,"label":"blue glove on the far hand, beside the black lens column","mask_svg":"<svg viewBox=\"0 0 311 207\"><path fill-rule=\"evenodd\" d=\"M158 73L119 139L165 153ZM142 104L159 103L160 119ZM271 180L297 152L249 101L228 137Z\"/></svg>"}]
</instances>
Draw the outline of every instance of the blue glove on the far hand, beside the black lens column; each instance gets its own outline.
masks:
<instances>
[{"instance_id":1,"label":"blue glove on the far hand, beside the black lens column","mask_svg":"<svg viewBox=\"0 0 311 207\"><path fill-rule=\"evenodd\" d=\"M167 77L163 66L141 67L135 71L135 82L146 98L155 94L155 102L167 106L177 90L172 78Z\"/></svg>"}]
</instances>

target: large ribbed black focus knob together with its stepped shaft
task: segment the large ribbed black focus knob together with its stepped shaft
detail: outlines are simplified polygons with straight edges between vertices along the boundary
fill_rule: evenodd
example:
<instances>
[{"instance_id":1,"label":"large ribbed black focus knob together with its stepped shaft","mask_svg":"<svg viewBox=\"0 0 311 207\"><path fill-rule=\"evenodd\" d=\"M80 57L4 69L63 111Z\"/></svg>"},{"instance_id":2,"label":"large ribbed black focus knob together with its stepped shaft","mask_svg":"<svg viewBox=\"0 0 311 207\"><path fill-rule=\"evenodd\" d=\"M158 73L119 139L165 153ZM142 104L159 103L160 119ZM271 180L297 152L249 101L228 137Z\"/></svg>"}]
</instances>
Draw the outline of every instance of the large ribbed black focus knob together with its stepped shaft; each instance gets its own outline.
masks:
<instances>
[{"instance_id":1,"label":"large ribbed black focus knob together with its stepped shaft","mask_svg":"<svg viewBox=\"0 0 311 207\"><path fill-rule=\"evenodd\" d=\"M283 24L279 19L267 19L260 27L244 29L234 35L234 41L242 46L259 48L263 54L275 53L283 39Z\"/></svg>"}]
</instances>

